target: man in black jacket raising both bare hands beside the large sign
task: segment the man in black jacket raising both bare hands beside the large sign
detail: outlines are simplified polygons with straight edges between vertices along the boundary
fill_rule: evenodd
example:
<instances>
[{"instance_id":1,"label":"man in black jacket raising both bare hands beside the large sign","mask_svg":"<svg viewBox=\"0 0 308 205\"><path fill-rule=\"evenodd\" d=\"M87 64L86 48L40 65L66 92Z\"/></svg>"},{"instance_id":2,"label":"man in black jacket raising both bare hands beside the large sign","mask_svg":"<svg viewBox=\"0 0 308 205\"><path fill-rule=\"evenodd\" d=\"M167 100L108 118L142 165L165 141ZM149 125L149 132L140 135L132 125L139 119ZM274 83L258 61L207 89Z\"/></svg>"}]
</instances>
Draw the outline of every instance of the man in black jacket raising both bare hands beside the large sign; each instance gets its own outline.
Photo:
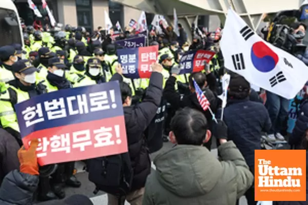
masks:
<instances>
[{"instance_id":1,"label":"man in black jacket raising both bare hands beside the large sign","mask_svg":"<svg viewBox=\"0 0 308 205\"><path fill-rule=\"evenodd\" d=\"M152 65L152 75L149 81L145 97L140 104L131 106L131 88L123 82L122 68L117 67L111 80L120 81L122 102L124 107L125 127L128 142L128 152L133 169L133 179L130 193L126 200L131 205L141 205L147 176L151 171L151 161L144 131L156 115L160 106L163 91L163 67L160 64ZM118 205L119 198L108 194L108 205Z\"/></svg>"}]
</instances>

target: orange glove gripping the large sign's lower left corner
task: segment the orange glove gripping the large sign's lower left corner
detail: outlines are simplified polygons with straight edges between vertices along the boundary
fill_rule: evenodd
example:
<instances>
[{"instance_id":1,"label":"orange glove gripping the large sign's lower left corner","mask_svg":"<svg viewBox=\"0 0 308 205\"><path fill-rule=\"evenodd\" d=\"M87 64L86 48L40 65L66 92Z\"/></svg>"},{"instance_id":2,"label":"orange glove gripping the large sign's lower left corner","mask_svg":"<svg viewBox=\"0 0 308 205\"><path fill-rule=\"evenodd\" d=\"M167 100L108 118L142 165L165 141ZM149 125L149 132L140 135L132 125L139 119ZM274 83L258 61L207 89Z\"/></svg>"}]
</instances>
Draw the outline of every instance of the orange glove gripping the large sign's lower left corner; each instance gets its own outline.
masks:
<instances>
[{"instance_id":1,"label":"orange glove gripping the large sign's lower left corner","mask_svg":"<svg viewBox=\"0 0 308 205\"><path fill-rule=\"evenodd\" d=\"M23 146L17 153L18 159L21 163L20 172L38 175L38 165L36 157L36 148L38 146L38 139L32 139L28 150Z\"/></svg>"}]
</instances>

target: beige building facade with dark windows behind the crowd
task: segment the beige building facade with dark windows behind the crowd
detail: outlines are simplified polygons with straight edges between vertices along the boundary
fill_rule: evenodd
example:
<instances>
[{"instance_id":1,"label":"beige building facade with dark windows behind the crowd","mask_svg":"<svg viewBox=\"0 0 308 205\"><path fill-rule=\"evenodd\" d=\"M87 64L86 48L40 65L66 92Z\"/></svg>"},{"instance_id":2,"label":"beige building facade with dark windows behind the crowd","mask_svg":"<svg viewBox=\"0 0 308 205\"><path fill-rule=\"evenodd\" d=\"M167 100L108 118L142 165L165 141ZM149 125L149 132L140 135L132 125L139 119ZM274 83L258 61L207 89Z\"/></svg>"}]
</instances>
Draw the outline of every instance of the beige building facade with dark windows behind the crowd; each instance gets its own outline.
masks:
<instances>
[{"instance_id":1,"label":"beige building facade with dark windows behind the crowd","mask_svg":"<svg viewBox=\"0 0 308 205\"><path fill-rule=\"evenodd\" d=\"M43 17L47 12L42 8L41 0L32 0L41 11ZM26 25L32 25L35 16L28 6L27 0L13 0L20 17L25 20ZM109 13L112 24L120 22L124 28L130 19L138 20L141 11L109 0L47 0L56 22L63 25L83 26L87 30L97 29L99 26L104 28L104 11Z\"/></svg>"}]
</instances>

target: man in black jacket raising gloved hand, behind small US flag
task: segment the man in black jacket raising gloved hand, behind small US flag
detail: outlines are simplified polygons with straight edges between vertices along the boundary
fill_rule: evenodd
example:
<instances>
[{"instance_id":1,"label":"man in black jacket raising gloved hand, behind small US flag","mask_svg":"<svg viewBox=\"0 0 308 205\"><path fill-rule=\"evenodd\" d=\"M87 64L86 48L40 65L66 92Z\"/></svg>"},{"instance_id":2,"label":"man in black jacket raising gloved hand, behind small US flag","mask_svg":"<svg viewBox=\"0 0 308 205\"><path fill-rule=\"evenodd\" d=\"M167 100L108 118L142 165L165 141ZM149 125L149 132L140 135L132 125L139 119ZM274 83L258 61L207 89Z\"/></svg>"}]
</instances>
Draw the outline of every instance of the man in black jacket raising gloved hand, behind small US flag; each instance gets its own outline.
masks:
<instances>
[{"instance_id":1,"label":"man in black jacket raising gloved hand, behind small US flag","mask_svg":"<svg viewBox=\"0 0 308 205\"><path fill-rule=\"evenodd\" d=\"M189 76L190 94L182 96L175 90L175 84L179 72L180 72L179 67L174 67L171 69L172 74L166 81L164 89L164 98L167 100L167 102L171 105L172 109L174 110L178 110L184 107L189 107L201 111L202 113L204 113L207 121L209 122L209 126L211 127L211 123L213 123L213 117L211 116L208 110L204 111L200 106L199 101L197 99L197 95L195 93L194 83L192 81L192 78L196 80L198 86L202 89L204 95L206 96L206 98L210 103L210 109L213 111L213 113L215 113L217 109L217 99L214 93L207 87L206 75L202 72L192 73ZM209 150L210 146L211 146L211 140L205 144L205 147Z\"/></svg>"}]
</instances>

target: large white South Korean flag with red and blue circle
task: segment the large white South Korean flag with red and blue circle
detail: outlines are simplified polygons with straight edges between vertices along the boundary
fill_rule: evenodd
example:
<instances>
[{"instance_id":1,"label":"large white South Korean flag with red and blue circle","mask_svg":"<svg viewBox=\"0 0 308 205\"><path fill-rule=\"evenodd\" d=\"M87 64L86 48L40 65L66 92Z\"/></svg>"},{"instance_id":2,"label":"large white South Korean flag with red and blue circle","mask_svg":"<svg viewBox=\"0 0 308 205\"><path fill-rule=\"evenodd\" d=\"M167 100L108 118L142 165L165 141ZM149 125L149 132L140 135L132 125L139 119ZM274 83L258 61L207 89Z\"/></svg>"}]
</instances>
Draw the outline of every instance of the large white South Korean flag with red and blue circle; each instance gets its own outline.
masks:
<instances>
[{"instance_id":1,"label":"large white South Korean flag with red and blue circle","mask_svg":"<svg viewBox=\"0 0 308 205\"><path fill-rule=\"evenodd\" d=\"M220 46L227 69L284 98L294 98L308 80L308 68L301 60L265 42L232 9Z\"/></svg>"}]
</instances>

